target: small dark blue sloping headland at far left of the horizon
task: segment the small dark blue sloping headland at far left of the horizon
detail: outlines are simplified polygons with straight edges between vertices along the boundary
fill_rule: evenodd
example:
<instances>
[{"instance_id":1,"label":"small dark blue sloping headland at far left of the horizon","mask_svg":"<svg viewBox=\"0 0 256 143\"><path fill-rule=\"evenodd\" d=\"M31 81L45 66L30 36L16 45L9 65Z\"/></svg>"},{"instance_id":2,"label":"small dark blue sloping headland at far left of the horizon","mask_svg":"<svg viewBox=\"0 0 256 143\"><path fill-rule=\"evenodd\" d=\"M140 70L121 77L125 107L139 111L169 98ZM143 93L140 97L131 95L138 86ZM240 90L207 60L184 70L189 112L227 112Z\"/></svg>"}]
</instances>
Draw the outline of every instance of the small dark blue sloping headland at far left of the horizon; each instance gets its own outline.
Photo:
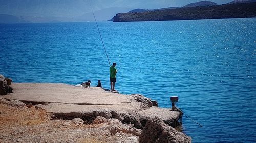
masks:
<instances>
[{"instance_id":1,"label":"small dark blue sloping headland at far left of the horizon","mask_svg":"<svg viewBox=\"0 0 256 143\"><path fill-rule=\"evenodd\" d=\"M13 15L0 14L0 23L29 23L29 21Z\"/></svg>"}]
</instances>

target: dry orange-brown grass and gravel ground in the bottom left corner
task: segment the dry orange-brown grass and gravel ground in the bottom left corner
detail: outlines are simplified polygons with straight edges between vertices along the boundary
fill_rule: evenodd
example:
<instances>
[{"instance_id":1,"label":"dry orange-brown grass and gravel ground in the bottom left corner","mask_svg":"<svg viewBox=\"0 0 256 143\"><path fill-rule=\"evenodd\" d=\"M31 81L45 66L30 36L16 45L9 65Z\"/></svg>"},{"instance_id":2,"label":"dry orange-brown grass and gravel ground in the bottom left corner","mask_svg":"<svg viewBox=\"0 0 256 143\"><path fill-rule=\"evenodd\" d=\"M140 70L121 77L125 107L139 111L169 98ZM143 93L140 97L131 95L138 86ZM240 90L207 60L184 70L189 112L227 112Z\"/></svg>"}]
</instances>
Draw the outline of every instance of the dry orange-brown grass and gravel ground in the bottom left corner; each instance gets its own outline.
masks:
<instances>
[{"instance_id":1,"label":"dry orange-brown grass and gravel ground in the bottom left corner","mask_svg":"<svg viewBox=\"0 0 256 143\"><path fill-rule=\"evenodd\" d=\"M133 134L112 135L103 124L76 124L52 119L45 110L16 107L0 97L0 142L138 142ZM129 138L131 138L129 139Z\"/></svg>"}]
</instances>

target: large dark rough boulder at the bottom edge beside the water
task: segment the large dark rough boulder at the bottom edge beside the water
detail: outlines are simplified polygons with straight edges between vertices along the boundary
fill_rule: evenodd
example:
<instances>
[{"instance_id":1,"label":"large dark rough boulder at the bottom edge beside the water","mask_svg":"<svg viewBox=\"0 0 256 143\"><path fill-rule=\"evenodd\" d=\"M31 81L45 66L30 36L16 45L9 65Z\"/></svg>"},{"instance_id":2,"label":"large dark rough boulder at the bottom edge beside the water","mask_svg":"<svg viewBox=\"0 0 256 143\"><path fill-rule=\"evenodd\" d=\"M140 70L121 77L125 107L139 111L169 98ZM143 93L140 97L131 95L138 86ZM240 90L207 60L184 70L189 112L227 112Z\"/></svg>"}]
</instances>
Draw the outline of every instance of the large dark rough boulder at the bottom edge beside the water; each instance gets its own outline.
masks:
<instances>
[{"instance_id":1,"label":"large dark rough boulder at the bottom edge beside the water","mask_svg":"<svg viewBox=\"0 0 256 143\"><path fill-rule=\"evenodd\" d=\"M191 137L166 125L161 119L148 120L139 136L139 143L190 143Z\"/></svg>"}]
</instances>

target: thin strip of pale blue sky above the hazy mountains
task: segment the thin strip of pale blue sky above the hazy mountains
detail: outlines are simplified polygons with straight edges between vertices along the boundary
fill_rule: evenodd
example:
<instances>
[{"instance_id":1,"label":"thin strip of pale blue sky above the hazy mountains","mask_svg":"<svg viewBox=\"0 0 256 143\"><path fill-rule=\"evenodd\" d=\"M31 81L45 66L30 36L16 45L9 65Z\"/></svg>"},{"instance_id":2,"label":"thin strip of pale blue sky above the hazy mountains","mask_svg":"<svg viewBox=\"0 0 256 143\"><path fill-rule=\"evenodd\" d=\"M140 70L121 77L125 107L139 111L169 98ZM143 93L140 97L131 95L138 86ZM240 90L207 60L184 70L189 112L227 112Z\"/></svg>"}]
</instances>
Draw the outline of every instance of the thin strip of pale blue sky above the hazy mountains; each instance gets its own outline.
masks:
<instances>
[{"instance_id":1,"label":"thin strip of pale blue sky above the hazy mountains","mask_svg":"<svg viewBox=\"0 0 256 143\"><path fill-rule=\"evenodd\" d=\"M0 0L2 6L15 6L15 4L27 7L32 5L44 4L78 4L79 6L88 7L92 5L96 9L110 8L110 7L126 7L126 8L142 8L142 9L156 9L165 7L180 7L190 3L199 2L200 0ZM226 4L233 0L211 0L217 4Z\"/></svg>"}]
</instances>

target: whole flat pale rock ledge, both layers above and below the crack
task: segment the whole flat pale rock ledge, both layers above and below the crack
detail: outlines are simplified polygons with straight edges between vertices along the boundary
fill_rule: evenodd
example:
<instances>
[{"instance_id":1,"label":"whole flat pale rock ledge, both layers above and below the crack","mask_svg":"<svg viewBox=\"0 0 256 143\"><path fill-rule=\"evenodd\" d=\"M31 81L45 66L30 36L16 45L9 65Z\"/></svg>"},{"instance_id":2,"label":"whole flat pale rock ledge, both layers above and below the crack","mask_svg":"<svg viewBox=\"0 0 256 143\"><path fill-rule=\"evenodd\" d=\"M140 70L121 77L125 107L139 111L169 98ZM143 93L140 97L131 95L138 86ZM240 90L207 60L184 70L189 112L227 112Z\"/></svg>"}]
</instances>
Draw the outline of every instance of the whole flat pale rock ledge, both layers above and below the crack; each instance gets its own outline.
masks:
<instances>
[{"instance_id":1,"label":"whole flat pale rock ledge, both layers above and below the crack","mask_svg":"<svg viewBox=\"0 0 256 143\"><path fill-rule=\"evenodd\" d=\"M115 115L137 114L140 117L158 117L164 121L175 121L179 117L178 112L159 107L147 107L142 102L135 100L134 96L110 92L103 88L75 87L67 84L52 83L12 83L13 93L3 96L8 100L20 100L47 112L57 114L79 115L90 114L99 111L106 118ZM127 116L125 116L127 117ZM125 118L124 117L124 118ZM130 117L128 116L130 119Z\"/></svg>"}]
</instances>

